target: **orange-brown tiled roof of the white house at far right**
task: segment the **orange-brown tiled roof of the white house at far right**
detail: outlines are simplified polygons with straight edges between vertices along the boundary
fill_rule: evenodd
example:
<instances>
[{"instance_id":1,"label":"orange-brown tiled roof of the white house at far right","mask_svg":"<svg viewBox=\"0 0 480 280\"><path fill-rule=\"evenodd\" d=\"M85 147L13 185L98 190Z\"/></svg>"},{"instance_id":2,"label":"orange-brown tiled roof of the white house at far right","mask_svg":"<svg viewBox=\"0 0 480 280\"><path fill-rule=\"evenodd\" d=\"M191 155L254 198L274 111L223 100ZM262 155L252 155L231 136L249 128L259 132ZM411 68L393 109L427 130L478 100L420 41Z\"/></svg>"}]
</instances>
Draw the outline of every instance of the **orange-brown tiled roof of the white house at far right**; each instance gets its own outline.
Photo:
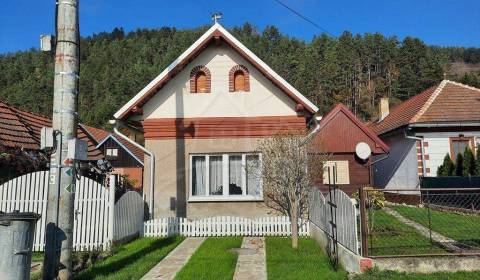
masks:
<instances>
[{"instance_id":1,"label":"orange-brown tiled roof of the white house at far right","mask_svg":"<svg viewBox=\"0 0 480 280\"><path fill-rule=\"evenodd\" d=\"M480 89L443 80L399 104L370 128L380 135L411 124L480 122L479 108Z\"/></svg>"}]
</instances>

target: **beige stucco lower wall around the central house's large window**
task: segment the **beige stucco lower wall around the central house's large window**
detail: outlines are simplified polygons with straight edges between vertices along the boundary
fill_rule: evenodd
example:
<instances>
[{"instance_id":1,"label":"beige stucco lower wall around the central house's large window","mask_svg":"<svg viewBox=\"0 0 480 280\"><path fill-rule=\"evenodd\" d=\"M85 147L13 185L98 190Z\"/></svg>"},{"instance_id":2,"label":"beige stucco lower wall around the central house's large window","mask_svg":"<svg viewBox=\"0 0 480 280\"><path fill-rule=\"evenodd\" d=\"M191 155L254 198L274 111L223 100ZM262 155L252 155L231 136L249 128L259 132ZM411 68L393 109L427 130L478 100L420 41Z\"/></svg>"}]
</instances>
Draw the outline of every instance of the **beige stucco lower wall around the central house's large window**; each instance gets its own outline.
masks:
<instances>
[{"instance_id":1,"label":"beige stucco lower wall around the central house's large window","mask_svg":"<svg viewBox=\"0 0 480 280\"><path fill-rule=\"evenodd\" d=\"M155 154L154 217L263 217L271 212L262 202L190 202L189 155L195 153L253 152L261 139L165 139L146 140ZM144 186L149 195L149 161L145 161ZM171 204L171 200L175 203ZM147 198L147 201L148 198ZM171 209L174 206L175 209Z\"/></svg>"}]
</instances>

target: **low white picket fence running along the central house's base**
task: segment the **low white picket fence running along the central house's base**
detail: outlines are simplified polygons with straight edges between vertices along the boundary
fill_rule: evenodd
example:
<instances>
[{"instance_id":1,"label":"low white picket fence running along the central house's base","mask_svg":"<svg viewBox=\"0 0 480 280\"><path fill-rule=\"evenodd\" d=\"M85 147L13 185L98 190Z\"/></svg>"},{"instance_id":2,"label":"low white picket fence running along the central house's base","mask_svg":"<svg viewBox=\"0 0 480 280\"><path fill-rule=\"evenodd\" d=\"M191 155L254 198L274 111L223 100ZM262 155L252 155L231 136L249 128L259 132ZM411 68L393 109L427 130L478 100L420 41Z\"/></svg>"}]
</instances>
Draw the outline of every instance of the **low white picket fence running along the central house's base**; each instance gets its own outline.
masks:
<instances>
[{"instance_id":1,"label":"low white picket fence running along the central house's base","mask_svg":"<svg viewBox=\"0 0 480 280\"><path fill-rule=\"evenodd\" d=\"M299 221L299 236L308 236L309 223ZM290 219L271 216L257 219L243 217L209 217L188 219L165 217L144 223L145 236L290 236Z\"/></svg>"}]
</instances>

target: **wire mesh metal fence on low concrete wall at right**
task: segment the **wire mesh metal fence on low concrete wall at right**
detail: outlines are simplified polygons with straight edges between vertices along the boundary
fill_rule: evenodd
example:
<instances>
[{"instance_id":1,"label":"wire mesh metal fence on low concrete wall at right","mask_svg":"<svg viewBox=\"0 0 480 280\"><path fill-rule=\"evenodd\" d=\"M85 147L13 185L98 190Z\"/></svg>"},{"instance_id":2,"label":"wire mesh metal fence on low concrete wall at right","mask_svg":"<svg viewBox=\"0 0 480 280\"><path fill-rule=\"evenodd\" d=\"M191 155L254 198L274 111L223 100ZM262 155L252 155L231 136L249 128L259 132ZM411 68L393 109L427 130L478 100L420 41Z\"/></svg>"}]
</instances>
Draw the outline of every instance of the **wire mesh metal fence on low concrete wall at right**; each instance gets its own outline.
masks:
<instances>
[{"instance_id":1,"label":"wire mesh metal fence on low concrete wall at right","mask_svg":"<svg viewBox=\"0 0 480 280\"><path fill-rule=\"evenodd\" d=\"M364 189L359 197L364 256L480 255L480 188Z\"/></svg>"}]
</instances>

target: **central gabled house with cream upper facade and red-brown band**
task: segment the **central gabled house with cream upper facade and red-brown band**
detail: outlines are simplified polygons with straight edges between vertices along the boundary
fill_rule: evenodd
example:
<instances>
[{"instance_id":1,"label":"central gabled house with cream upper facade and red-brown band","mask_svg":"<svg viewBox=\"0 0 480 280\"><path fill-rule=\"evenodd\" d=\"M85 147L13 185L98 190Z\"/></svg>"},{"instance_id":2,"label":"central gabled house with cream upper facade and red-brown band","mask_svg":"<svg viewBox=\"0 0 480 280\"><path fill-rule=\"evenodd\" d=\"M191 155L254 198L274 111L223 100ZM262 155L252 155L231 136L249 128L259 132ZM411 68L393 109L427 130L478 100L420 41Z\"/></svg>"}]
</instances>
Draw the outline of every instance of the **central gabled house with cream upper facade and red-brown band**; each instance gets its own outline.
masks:
<instances>
[{"instance_id":1,"label":"central gabled house with cream upper facade and red-brown band","mask_svg":"<svg viewBox=\"0 0 480 280\"><path fill-rule=\"evenodd\" d=\"M317 110L216 23L114 116L155 155L155 217L256 217L269 210L244 167L259 141L305 130Z\"/></svg>"}]
</instances>

